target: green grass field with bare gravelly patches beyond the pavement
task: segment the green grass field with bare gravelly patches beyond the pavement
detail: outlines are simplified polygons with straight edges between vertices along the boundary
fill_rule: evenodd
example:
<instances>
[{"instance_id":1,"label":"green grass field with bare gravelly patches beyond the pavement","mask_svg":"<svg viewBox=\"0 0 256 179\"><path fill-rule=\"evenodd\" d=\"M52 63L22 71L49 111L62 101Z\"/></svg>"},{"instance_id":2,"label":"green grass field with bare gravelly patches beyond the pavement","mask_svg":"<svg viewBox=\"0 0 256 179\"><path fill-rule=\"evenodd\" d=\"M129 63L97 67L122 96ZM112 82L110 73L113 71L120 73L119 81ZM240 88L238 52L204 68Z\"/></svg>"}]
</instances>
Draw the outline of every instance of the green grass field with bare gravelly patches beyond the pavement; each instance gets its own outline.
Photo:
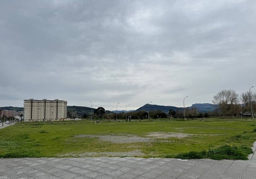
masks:
<instances>
[{"instance_id":1,"label":"green grass field with bare gravelly patches beyond the pavement","mask_svg":"<svg viewBox=\"0 0 256 179\"><path fill-rule=\"evenodd\" d=\"M254 123L248 120L22 122L0 130L0 157L247 159L256 141Z\"/></svg>"}]
</instances>

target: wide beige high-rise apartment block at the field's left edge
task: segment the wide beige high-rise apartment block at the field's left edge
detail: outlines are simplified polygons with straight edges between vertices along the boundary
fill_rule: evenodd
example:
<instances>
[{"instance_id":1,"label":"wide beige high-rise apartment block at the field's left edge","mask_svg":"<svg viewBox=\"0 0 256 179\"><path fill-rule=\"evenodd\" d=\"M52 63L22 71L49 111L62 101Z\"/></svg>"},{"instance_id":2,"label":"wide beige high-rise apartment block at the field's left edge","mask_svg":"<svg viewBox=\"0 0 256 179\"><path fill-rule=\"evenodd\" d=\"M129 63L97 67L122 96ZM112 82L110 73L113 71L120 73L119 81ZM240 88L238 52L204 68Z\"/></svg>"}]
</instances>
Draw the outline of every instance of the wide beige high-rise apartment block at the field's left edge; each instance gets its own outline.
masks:
<instances>
[{"instance_id":1,"label":"wide beige high-rise apartment block at the field's left edge","mask_svg":"<svg viewBox=\"0 0 256 179\"><path fill-rule=\"evenodd\" d=\"M60 120L67 118L67 101L62 100L24 100L24 121Z\"/></svg>"}]
</instances>

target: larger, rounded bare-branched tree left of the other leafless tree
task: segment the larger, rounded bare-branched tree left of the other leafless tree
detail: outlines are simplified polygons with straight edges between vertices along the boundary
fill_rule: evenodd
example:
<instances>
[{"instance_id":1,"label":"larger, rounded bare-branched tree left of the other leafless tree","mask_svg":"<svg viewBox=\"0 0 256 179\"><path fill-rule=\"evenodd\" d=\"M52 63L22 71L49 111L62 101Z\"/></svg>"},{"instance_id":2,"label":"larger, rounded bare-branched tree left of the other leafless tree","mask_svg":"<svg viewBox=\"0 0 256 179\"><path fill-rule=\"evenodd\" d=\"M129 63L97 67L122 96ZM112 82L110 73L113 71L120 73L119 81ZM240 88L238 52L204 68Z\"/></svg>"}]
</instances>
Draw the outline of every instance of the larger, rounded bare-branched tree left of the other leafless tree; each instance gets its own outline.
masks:
<instances>
[{"instance_id":1,"label":"larger, rounded bare-branched tree left of the other leafless tree","mask_svg":"<svg viewBox=\"0 0 256 179\"><path fill-rule=\"evenodd\" d=\"M222 90L213 97L213 103L219 104L222 114L234 113L234 106L238 103L238 94L230 90Z\"/></svg>"}]
</instances>

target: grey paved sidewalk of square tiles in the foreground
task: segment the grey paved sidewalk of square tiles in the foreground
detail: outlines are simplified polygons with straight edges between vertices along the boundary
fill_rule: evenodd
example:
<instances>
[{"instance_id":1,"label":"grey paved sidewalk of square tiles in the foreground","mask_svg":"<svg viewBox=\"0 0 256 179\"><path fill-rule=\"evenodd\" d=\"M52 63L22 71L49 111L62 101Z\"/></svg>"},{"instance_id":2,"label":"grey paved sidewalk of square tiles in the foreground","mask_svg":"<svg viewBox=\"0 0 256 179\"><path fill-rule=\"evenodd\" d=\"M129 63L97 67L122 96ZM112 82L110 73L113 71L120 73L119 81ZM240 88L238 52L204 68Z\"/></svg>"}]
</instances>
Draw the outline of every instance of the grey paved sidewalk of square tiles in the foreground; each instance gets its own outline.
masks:
<instances>
[{"instance_id":1,"label":"grey paved sidewalk of square tiles in the foreground","mask_svg":"<svg viewBox=\"0 0 256 179\"><path fill-rule=\"evenodd\" d=\"M0 179L256 179L256 154L251 154L247 161L134 157L0 159Z\"/></svg>"}]
</instances>

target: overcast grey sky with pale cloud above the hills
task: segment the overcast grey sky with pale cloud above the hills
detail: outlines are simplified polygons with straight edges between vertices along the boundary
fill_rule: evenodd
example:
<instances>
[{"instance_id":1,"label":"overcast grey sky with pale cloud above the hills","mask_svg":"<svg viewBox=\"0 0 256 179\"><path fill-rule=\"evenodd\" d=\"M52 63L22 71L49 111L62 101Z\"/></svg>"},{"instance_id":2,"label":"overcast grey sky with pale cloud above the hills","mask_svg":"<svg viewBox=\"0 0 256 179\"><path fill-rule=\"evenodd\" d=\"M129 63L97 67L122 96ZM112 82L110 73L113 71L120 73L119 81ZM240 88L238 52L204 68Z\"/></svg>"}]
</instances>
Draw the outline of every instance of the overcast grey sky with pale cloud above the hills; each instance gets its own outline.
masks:
<instances>
[{"instance_id":1,"label":"overcast grey sky with pale cloud above the hills","mask_svg":"<svg viewBox=\"0 0 256 179\"><path fill-rule=\"evenodd\" d=\"M1 107L183 107L251 86L255 0L0 1Z\"/></svg>"}]
</instances>

